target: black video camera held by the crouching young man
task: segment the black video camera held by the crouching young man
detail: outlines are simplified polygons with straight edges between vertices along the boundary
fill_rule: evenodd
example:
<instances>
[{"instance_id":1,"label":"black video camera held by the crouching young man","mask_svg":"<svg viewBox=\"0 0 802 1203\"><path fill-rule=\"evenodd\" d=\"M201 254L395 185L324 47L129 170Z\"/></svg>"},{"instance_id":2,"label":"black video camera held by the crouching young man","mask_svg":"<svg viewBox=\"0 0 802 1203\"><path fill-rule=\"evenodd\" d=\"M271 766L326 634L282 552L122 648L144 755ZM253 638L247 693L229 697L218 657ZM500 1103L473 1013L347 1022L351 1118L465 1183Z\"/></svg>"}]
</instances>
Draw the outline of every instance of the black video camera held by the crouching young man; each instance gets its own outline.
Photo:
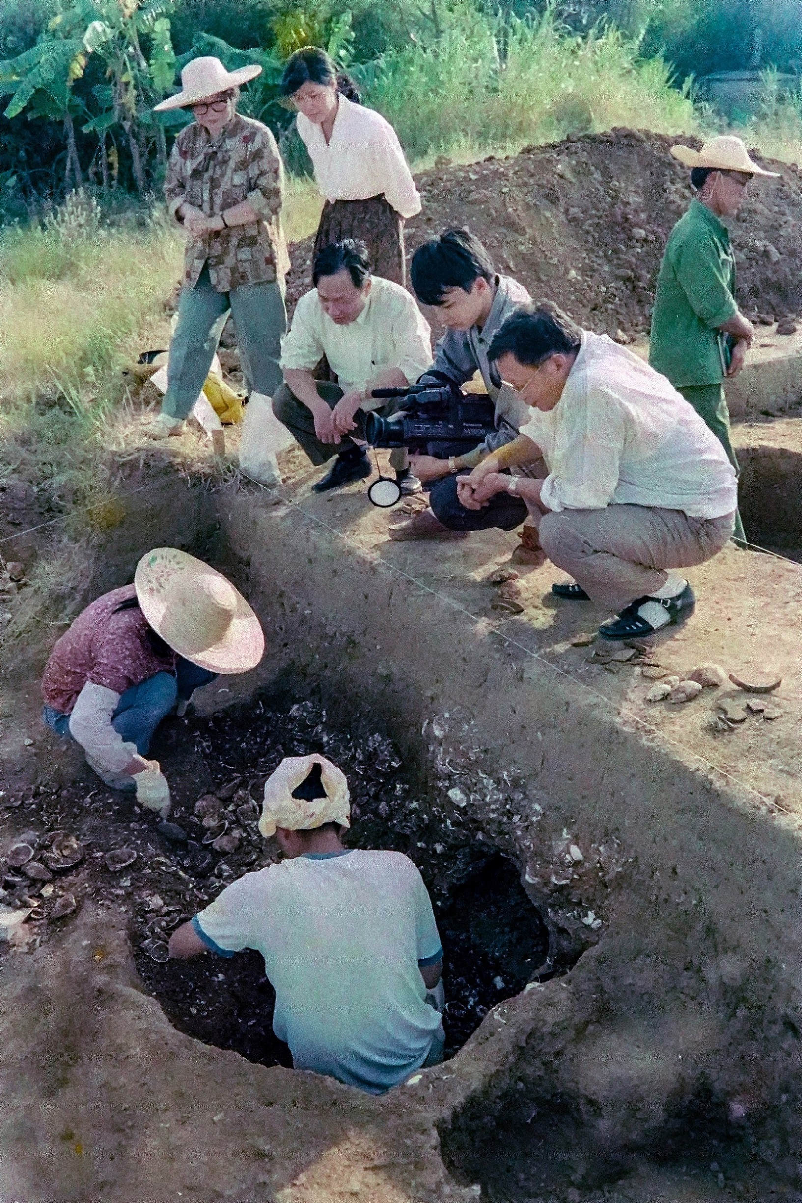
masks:
<instances>
[{"instance_id":1,"label":"black video camera held by the crouching young man","mask_svg":"<svg viewBox=\"0 0 802 1203\"><path fill-rule=\"evenodd\" d=\"M452 383L420 383L406 389L374 389L372 397L404 397L393 417L369 413L364 438L374 448L409 448L438 460L464 455L495 429L494 405L486 393L464 393Z\"/></svg>"}]
</instances>

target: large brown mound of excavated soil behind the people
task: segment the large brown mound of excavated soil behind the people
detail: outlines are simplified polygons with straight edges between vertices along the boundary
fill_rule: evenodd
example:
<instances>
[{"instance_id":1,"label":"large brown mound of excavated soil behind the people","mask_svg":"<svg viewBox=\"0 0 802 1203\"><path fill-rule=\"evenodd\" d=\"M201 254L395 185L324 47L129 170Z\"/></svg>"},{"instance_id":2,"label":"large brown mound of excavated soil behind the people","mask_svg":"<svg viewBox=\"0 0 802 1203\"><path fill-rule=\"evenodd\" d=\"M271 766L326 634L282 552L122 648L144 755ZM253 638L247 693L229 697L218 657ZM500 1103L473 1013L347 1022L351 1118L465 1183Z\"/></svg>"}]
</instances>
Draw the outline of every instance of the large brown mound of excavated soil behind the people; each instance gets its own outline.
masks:
<instances>
[{"instance_id":1,"label":"large brown mound of excavated soil behind the people","mask_svg":"<svg viewBox=\"0 0 802 1203\"><path fill-rule=\"evenodd\" d=\"M423 211L408 223L409 254L448 226L468 226L533 297L592 330L644 333L666 238L693 195L689 172L670 154L677 142L700 146L617 129L513 159L445 160L417 177ZM794 165L773 170L782 178L755 182L730 225L743 309L782 316L802 312L802 177ZM292 249L293 300L311 286L309 253L305 242Z\"/></svg>"}]
</instances>

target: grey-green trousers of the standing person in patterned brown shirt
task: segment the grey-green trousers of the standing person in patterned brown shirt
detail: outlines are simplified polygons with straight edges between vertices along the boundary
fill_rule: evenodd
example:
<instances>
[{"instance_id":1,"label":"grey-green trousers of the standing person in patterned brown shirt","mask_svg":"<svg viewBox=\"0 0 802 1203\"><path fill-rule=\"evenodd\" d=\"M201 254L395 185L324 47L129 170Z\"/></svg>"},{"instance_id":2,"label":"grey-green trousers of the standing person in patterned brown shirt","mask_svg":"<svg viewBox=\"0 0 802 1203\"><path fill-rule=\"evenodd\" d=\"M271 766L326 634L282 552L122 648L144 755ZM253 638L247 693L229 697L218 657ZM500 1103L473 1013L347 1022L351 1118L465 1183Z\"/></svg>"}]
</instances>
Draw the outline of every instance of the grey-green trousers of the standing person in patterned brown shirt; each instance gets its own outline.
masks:
<instances>
[{"instance_id":1,"label":"grey-green trousers of the standing person in patterned brown shirt","mask_svg":"<svg viewBox=\"0 0 802 1203\"><path fill-rule=\"evenodd\" d=\"M244 284L231 292L218 292L204 267L195 288L182 289L178 300L178 325L170 344L167 392L161 405L170 417L186 417L197 401L225 325L221 319L230 309L248 392L269 397L280 385L281 336L287 328L283 283Z\"/></svg>"}]
</instances>

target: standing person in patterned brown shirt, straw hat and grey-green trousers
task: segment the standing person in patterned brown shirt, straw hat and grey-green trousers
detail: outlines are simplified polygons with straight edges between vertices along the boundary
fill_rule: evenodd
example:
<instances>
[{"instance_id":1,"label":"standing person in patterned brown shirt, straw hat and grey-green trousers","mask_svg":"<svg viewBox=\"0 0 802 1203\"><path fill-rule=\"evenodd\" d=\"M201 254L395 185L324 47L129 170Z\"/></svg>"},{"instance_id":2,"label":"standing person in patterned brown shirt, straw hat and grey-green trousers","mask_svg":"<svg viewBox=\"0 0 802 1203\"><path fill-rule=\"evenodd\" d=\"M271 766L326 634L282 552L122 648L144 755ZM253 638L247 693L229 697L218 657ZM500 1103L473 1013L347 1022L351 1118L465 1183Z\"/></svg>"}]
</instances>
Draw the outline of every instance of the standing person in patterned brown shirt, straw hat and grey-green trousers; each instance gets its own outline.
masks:
<instances>
[{"instance_id":1,"label":"standing person in patterned brown shirt, straw hat and grey-green trousers","mask_svg":"<svg viewBox=\"0 0 802 1203\"><path fill-rule=\"evenodd\" d=\"M227 71L216 58L192 59L182 71L182 90L156 105L158 112L189 108L195 122L176 138L165 182L170 212L186 231L186 251L155 437L182 432L228 310L249 393L269 397L281 383L289 268L284 168L268 128L237 113L239 85L261 70Z\"/></svg>"}]
</instances>

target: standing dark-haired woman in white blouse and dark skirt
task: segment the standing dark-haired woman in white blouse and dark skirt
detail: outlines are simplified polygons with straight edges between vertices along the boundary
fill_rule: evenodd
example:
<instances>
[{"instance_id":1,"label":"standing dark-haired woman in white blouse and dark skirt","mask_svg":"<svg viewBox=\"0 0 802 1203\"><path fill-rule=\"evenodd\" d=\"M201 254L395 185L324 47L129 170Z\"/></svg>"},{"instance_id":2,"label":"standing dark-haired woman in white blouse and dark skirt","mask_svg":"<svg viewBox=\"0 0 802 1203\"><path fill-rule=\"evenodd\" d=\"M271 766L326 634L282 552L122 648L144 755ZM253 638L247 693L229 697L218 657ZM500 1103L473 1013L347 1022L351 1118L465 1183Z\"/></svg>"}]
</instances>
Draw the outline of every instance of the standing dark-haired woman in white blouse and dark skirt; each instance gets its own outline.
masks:
<instances>
[{"instance_id":1,"label":"standing dark-haired woman in white blouse and dark skirt","mask_svg":"<svg viewBox=\"0 0 802 1203\"><path fill-rule=\"evenodd\" d=\"M298 112L326 197L313 261L328 243L358 238L376 275L405 284L404 221L421 212L421 197L392 125L360 103L352 81L314 46L287 60L280 90Z\"/></svg>"}]
</instances>

